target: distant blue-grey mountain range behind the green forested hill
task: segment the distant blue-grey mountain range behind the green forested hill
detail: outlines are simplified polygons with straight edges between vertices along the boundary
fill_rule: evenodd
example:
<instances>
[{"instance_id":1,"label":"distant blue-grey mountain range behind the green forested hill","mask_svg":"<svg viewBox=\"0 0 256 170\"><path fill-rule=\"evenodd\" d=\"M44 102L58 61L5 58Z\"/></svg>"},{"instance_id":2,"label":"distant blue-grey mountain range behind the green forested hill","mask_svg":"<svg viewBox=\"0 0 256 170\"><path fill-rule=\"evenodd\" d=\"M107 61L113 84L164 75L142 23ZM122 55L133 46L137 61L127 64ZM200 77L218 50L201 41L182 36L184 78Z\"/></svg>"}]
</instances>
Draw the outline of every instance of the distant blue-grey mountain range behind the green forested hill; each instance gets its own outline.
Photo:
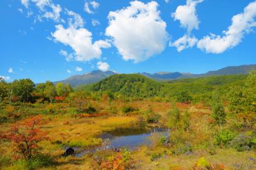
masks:
<instances>
[{"instance_id":1,"label":"distant blue-grey mountain range behind the green forested hill","mask_svg":"<svg viewBox=\"0 0 256 170\"><path fill-rule=\"evenodd\" d=\"M256 65L227 66L225 68L221 68L220 70L209 71L207 73L201 73L201 74L180 73L180 72L157 72L157 73L143 72L138 74L144 75L146 77L149 77L151 79L156 79L156 80L175 80L175 79L184 79L184 78L207 77L212 75L246 74L252 69L256 70ZM69 83L70 86L74 87L81 84L90 84L93 82L98 82L102 79L105 79L106 77L109 77L115 74L118 74L118 73L113 72L111 70L108 70L106 72L102 72L100 70L94 70L92 72L84 73L83 75L73 75L72 77L68 77L68 79L65 79L63 81L58 81L58 82L63 82L64 84ZM58 82L54 82L54 84L57 84Z\"/></svg>"}]
</instances>

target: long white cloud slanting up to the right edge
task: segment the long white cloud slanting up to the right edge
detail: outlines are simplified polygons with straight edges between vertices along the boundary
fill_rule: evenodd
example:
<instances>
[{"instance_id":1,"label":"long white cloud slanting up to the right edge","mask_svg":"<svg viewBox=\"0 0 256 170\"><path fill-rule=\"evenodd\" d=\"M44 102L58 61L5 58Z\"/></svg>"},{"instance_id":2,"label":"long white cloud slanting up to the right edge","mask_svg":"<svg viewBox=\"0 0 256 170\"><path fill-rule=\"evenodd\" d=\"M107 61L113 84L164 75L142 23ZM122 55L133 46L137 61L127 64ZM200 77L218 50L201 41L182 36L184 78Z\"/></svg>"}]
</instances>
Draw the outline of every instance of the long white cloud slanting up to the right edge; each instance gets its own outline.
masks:
<instances>
[{"instance_id":1,"label":"long white cloud slanting up to the right edge","mask_svg":"<svg viewBox=\"0 0 256 170\"><path fill-rule=\"evenodd\" d=\"M211 34L199 40L197 47L205 52L220 54L227 49L232 49L238 45L244 35L252 31L256 26L256 1L248 4L243 13L232 17L232 24L227 31L223 31L223 36Z\"/></svg>"}]
</instances>

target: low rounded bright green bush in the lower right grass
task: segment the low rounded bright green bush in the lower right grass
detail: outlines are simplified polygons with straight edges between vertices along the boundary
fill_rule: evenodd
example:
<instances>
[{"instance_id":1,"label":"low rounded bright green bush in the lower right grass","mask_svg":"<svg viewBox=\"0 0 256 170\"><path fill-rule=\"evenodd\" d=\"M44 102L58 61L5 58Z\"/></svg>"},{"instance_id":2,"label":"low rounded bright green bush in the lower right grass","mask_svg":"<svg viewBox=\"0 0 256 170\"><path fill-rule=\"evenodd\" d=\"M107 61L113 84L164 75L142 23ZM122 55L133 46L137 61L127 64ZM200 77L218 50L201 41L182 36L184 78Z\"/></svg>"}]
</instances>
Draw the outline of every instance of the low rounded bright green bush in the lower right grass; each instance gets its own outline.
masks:
<instances>
[{"instance_id":1,"label":"low rounded bright green bush in the lower right grass","mask_svg":"<svg viewBox=\"0 0 256 170\"><path fill-rule=\"evenodd\" d=\"M217 135L216 135L216 142L218 146L227 146L227 144L230 144L232 139L234 139L236 135L231 132L230 130L221 130Z\"/></svg>"}]
</instances>

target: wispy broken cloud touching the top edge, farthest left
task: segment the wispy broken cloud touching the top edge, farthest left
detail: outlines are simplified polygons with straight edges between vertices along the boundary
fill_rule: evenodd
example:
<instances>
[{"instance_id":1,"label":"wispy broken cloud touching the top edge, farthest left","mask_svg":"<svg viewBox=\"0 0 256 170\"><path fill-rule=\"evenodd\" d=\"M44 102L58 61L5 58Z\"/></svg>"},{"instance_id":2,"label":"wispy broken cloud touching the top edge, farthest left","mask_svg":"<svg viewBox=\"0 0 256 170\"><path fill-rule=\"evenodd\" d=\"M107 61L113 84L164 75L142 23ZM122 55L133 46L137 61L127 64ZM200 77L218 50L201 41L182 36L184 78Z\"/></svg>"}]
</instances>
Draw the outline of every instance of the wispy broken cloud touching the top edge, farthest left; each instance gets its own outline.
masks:
<instances>
[{"instance_id":1,"label":"wispy broken cloud touching the top edge, farthest left","mask_svg":"<svg viewBox=\"0 0 256 170\"><path fill-rule=\"evenodd\" d=\"M20 0L21 3L29 8L29 3L34 3L40 10L40 15L37 16L37 20L52 19L55 21L60 20L61 6L60 4L52 3L52 0ZM29 14L29 13L28 13Z\"/></svg>"}]
</instances>

